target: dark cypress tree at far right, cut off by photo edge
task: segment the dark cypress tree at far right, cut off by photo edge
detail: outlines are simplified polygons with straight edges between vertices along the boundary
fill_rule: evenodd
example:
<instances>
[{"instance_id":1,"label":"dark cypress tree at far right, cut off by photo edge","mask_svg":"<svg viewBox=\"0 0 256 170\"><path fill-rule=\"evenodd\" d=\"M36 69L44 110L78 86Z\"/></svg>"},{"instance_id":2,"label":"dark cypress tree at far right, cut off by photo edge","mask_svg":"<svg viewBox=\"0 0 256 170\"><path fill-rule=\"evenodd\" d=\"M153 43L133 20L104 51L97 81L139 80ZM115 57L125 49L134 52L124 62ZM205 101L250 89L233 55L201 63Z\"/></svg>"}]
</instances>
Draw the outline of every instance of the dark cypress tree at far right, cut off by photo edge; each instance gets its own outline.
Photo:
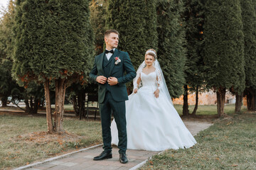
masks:
<instances>
[{"instance_id":1,"label":"dark cypress tree at far right, cut off by photo edge","mask_svg":"<svg viewBox=\"0 0 256 170\"><path fill-rule=\"evenodd\" d=\"M245 95L247 97L247 110L253 111L255 110L256 95L256 11L252 0L241 0L240 3L245 35ZM242 95L237 97L237 101L240 103L237 104L238 106L236 105L235 110L239 112L242 106Z\"/></svg>"}]
</instances>

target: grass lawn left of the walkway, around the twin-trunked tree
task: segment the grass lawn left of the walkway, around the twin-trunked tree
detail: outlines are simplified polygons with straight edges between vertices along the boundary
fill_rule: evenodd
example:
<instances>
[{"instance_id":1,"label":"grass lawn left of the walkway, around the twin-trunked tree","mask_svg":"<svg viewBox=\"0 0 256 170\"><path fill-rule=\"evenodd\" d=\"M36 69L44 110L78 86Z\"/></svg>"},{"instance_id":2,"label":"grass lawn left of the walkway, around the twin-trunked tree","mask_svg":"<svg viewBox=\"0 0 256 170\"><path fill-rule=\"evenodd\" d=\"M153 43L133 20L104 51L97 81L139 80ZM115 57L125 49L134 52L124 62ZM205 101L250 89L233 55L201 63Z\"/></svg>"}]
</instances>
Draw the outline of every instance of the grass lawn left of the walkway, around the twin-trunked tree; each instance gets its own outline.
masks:
<instances>
[{"instance_id":1,"label":"grass lawn left of the walkway, around the twin-trunked tree","mask_svg":"<svg viewBox=\"0 0 256 170\"><path fill-rule=\"evenodd\" d=\"M34 142L18 140L30 132L47 131L44 116L0 115L0 169L11 169L31 162L72 152L79 147L102 143L101 125L97 121L64 118L63 127L68 132L82 136L79 142Z\"/></svg>"}]
</instances>

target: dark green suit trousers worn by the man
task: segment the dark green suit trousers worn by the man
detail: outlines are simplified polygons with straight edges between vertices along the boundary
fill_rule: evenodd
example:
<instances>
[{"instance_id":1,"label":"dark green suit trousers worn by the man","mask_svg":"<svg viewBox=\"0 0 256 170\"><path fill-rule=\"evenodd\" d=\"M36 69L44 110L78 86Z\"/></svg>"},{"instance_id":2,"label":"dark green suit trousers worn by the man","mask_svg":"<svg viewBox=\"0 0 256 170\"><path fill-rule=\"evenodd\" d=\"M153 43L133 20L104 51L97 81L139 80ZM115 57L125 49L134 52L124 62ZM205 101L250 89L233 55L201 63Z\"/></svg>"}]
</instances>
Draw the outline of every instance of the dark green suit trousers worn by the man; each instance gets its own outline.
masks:
<instances>
[{"instance_id":1,"label":"dark green suit trousers worn by the man","mask_svg":"<svg viewBox=\"0 0 256 170\"><path fill-rule=\"evenodd\" d=\"M102 123L102 138L103 149L111 151L111 115L114 115L114 120L117 123L118 130L118 148L119 153L125 153L127 150L127 129L125 118L125 101L114 101L110 91L106 91L105 99L100 103L100 118Z\"/></svg>"}]
</instances>

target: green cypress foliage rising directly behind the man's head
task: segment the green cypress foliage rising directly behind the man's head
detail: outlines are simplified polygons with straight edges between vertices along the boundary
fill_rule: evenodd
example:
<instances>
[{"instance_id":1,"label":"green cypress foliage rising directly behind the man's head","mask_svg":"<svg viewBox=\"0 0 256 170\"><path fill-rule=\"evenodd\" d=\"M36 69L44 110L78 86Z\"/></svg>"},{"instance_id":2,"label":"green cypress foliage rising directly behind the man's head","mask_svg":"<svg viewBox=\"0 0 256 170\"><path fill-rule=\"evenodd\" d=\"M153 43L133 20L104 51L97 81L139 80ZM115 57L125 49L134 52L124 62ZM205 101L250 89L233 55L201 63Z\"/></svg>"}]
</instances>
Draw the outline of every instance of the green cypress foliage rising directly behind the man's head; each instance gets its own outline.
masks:
<instances>
[{"instance_id":1,"label":"green cypress foliage rising directly behind the man's head","mask_svg":"<svg viewBox=\"0 0 256 170\"><path fill-rule=\"evenodd\" d=\"M108 1L106 28L119 32L119 49L129 53L135 69L146 50L157 50L155 8L155 0Z\"/></svg>"}]
</instances>

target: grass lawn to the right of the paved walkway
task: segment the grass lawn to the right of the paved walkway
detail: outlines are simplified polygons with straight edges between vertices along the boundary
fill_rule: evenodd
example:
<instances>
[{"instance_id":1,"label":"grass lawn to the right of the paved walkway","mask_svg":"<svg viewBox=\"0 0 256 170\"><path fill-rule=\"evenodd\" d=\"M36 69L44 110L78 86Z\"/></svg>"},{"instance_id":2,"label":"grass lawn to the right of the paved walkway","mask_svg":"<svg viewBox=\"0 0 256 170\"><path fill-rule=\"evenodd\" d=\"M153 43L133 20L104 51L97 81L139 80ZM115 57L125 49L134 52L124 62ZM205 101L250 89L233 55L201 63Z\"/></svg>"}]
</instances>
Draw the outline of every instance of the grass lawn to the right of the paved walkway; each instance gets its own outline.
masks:
<instances>
[{"instance_id":1,"label":"grass lawn to the right of the paved walkway","mask_svg":"<svg viewBox=\"0 0 256 170\"><path fill-rule=\"evenodd\" d=\"M196 135L195 146L170 149L141 169L256 169L256 113L230 114Z\"/></svg>"}]
</instances>

